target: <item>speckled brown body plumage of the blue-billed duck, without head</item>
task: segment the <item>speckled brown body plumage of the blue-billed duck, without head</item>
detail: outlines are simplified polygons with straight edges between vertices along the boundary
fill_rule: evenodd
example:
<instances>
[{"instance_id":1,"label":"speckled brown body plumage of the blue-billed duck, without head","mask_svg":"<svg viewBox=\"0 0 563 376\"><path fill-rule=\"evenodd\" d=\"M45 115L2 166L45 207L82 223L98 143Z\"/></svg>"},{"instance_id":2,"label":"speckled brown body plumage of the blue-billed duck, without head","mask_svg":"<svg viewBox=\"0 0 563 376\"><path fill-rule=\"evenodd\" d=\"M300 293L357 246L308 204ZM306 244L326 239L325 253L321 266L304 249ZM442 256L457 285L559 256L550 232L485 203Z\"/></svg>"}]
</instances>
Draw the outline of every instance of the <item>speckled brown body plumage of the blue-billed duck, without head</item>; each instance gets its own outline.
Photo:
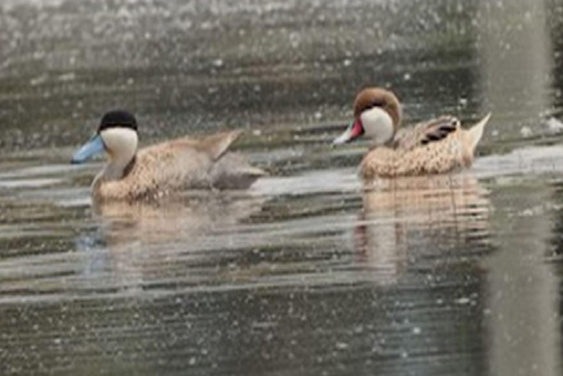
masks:
<instances>
[{"instance_id":1,"label":"speckled brown body plumage of the blue-billed duck, without head","mask_svg":"<svg viewBox=\"0 0 563 376\"><path fill-rule=\"evenodd\" d=\"M224 132L203 139L181 138L146 147L118 180L106 180L104 170L92 184L95 200L158 198L178 189L246 188L264 172L239 154L229 152L240 132ZM228 170L228 171L227 171ZM233 183L233 184L231 184Z\"/></svg>"}]
</instances>

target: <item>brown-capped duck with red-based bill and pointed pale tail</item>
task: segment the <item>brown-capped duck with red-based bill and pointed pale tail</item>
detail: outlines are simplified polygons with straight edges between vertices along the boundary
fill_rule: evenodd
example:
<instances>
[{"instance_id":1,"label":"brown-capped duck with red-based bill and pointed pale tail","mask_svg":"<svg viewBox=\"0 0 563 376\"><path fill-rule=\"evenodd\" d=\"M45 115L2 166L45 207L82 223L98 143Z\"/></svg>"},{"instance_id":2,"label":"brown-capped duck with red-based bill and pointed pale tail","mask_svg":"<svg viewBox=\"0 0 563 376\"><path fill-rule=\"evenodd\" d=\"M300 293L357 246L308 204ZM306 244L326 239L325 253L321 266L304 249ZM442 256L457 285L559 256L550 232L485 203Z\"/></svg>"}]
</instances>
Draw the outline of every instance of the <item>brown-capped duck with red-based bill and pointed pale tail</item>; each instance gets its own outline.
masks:
<instances>
[{"instance_id":1,"label":"brown-capped duck with red-based bill and pointed pale tail","mask_svg":"<svg viewBox=\"0 0 563 376\"><path fill-rule=\"evenodd\" d=\"M470 129L463 129L454 116L400 127L402 117L401 104L392 91L367 87L354 100L354 121L333 144L361 137L372 141L360 163L364 180L445 174L471 166L491 113Z\"/></svg>"}]
</instances>

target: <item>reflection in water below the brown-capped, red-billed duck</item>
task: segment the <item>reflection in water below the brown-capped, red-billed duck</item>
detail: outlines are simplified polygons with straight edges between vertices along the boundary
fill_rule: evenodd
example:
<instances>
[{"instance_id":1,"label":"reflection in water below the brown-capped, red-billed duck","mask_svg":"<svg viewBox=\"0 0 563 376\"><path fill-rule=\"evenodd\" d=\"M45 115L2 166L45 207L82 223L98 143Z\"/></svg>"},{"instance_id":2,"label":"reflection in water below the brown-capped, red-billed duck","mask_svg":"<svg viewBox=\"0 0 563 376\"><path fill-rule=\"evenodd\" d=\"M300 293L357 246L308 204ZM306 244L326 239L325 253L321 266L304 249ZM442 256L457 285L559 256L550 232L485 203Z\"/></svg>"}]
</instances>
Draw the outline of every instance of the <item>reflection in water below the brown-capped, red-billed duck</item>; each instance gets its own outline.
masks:
<instances>
[{"instance_id":1,"label":"reflection in water below the brown-capped, red-billed duck","mask_svg":"<svg viewBox=\"0 0 563 376\"><path fill-rule=\"evenodd\" d=\"M475 255L488 243L487 194L469 171L374 180L354 231L360 263L387 285L449 252L458 261Z\"/></svg>"}]
</instances>

